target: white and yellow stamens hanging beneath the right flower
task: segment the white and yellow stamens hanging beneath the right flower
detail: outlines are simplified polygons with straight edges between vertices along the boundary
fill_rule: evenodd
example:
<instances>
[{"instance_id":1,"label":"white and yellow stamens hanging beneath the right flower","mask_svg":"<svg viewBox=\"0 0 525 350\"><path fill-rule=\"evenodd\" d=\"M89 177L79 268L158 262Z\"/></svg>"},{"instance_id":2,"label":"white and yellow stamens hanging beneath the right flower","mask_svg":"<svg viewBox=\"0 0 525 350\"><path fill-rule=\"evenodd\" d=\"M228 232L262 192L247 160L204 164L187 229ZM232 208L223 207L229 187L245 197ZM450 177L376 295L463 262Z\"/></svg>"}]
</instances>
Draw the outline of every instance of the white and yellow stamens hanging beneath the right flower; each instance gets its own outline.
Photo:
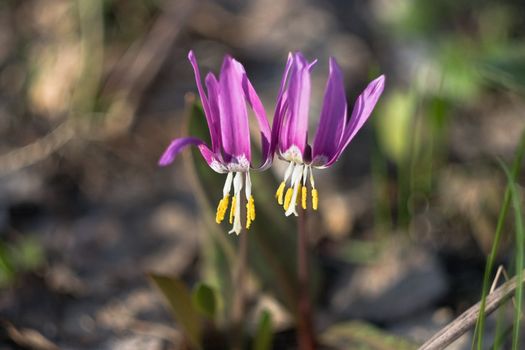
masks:
<instances>
[{"instance_id":1,"label":"white and yellow stamens hanging beneath the right flower","mask_svg":"<svg viewBox=\"0 0 525 350\"><path fill-rule=\"evenodd\" d=\"M292 214L298 216L297 206L299 205L299 201L303 209L308 207L308 177L310 178L310 186L312 188L312 208L313 210L317 210L319 196L317 189L315 188L314 175L311 165L290 162L290 165L288 165L288 168L284 173L284 180L281 182L279 188L277 188L277 192L275 193L275 198L277 198L279 205L283 206L286 216L290 216ZM286 188L288 179L290 179L290 185L285 192L284 190Z\"/></svg>"}]
</instances>

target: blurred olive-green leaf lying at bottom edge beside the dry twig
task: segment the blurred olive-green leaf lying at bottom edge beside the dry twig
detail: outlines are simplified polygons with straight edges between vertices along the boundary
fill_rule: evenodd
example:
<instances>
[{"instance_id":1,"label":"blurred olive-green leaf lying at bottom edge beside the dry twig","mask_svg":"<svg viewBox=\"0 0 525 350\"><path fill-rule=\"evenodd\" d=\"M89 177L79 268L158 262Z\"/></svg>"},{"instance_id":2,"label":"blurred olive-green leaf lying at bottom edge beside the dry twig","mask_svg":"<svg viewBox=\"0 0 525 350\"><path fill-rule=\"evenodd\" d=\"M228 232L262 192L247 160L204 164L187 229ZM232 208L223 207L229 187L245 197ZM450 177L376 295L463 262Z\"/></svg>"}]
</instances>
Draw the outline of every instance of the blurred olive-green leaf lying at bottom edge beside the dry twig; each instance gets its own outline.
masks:
<instances>
[{"instance_id":1,"label":"blurred olive-green leaf lying at bottom edge beside the dry twig","mask_svg":"<svg viewBox=\"0 0 525 350\"><path fill-rule=\"evenodd\" d=\"M352 321L338 323L321 334L323 344L336 349L415 350L417 345L389 334L371 324Z\"/></svg>"}]
</instances>

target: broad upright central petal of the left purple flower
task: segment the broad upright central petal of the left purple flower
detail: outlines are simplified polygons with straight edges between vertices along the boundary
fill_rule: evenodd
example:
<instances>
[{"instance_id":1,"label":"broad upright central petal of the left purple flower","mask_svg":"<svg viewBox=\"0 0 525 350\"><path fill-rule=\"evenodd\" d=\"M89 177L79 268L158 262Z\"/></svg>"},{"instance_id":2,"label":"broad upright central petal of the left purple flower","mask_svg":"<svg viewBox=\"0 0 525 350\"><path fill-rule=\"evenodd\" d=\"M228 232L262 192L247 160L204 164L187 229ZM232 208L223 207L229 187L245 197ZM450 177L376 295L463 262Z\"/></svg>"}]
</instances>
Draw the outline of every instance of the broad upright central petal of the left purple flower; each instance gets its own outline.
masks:
<instances>
[{"instance_id":1,"label":"broad upright central petal of the left purple flower","mask_svg":"<svg viewBox=\"0 0 525 350\"><path fill-rule=\"evenodd\" d=\"M219 78L219 109L222 147L225 161L245 156L251 160L248 111L242 88L244 68L226 56Z\"/></svg>"}]
</instances>

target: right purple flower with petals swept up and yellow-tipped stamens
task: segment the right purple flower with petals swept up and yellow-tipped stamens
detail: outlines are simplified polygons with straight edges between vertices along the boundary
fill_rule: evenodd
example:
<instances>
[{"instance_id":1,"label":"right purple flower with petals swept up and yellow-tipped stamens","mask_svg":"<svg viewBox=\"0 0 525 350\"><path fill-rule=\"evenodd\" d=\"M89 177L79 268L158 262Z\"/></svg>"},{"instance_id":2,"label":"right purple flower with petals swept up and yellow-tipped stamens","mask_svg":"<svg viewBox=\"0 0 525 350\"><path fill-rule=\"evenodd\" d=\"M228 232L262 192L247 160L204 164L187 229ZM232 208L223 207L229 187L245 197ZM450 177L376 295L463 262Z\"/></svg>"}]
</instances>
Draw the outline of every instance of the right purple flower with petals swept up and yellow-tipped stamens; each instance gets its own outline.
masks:
<instances>
[{"instance_id":1,"label":"right purple flower with petals swept up and yellow-tipped stamens","mask_svg":"<svg viewBox=\"0 0 525 350\"><path fill-rule=\"evenodd\" d=\"M352 114L348 116L343 76L335 59L330 58L319 126L310 146L307 135L310 71L315 63L308 62L299 52L288 56L275 107L272 152L290 162L275 196L284 206L287 216L297 215L299 199L306 209L308 179L312 188L312 207L317 210L318 193L312 168L327 168L339 159L372 113L385 85L384 75L372 81L359 95ZM288 180L290 186L285 192Z\"/></svg>"}]
</instances>

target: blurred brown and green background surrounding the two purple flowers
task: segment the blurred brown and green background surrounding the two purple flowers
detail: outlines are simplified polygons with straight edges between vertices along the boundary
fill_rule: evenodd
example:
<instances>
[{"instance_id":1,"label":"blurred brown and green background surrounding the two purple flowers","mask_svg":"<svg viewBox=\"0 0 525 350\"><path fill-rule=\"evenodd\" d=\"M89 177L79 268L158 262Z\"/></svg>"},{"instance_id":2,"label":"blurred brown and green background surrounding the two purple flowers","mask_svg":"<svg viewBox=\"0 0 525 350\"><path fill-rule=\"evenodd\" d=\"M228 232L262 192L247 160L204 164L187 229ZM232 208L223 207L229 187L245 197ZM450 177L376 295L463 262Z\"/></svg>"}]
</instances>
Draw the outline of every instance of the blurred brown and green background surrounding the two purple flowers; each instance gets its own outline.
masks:
<instances>
[{"instance_id":1,"label":"blurred brown and green background surrounding the two purple flowers","mask_svg":"<svg viewBox=\"0 0 525 350\"><path fill-rule=\"evenodd\" d=\"M329 56L349 104L386 74L369 123L316 173L316 325L360 320L422 343L481 297L507 183L497 159L512 162L525 127L524 36L518 0L0 2L0 348L177 348L146 273L221 283L203 272L217 265L207 237L237 237L209 223L202 197L214 206L224 178L202 183L200 158L157 167L191 131L190 49L203 74L227 53L241 61L270 119L288 52L318 58L312 135ZM275 189L254 188L257 221L286 240ZM511 275L513 222L496 255ZM250 314L270 310L275 348L293 348L280 286L252 282Z\"/></svg>"}]
</instances>

